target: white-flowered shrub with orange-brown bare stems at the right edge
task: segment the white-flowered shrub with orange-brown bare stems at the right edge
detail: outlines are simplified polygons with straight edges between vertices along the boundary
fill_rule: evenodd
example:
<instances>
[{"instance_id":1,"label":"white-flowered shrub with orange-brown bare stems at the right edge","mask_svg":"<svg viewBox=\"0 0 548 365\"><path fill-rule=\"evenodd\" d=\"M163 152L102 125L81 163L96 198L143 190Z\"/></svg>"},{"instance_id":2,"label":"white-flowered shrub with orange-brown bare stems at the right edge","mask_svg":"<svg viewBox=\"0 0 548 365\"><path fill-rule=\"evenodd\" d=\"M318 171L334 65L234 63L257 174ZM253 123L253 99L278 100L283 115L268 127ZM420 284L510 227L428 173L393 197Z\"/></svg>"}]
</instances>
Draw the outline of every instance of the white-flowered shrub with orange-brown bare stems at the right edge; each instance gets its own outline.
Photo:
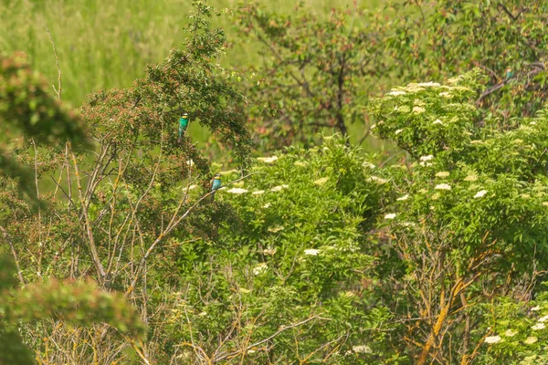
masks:
<instances>
[{"instance_id":1,"label":"white-flowered shrub with orange-brown bare stems at the right edge","mask_svg":"<svg viewBox=\"0 0 548 365\"><path fill-rule=\"evenodd\" d=\"M398 288L388 307L402 317L398 346L415 363L493 363L512 351L508 363L517 363L532 354L525 339L543 328L527 328L536 314L524 309L537 296L545 306L535 284L548 264L546 110L514 130L477 128L482 77L474 70L447 85L410 84L372 107L374 132L410 155L386 171L397 199L385 222L402 265L386 285Z\"/></svg>"}]
</instances>

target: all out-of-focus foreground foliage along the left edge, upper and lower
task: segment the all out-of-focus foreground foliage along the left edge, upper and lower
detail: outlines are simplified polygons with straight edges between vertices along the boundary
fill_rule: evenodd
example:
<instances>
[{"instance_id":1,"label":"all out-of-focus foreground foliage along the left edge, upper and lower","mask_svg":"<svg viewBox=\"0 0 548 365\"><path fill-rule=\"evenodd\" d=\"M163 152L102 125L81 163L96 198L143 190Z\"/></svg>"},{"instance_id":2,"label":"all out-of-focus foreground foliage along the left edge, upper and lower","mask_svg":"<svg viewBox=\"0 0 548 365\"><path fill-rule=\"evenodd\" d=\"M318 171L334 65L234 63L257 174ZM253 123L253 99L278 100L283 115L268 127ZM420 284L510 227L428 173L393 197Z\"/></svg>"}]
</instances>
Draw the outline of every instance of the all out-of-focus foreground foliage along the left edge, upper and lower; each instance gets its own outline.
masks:
<instances>
[{"instance_id":1,"label":"all out-of-focus foreground foliage along the left edge, upper and lower","mask_svg":"<svg viewBox=\"0 0 548 365\"><path fill-rule=\"evenodd\" d=\"M42 78L31 71L24 57L0 57L0 171L3 194L13 189L11 182L19 182L19 189L29 195L32 186L28 168L11 155L18 147L28 146L26 139L44 146L72 141L79 148L89 146L81 120L64 109L45 91ZM24 137L23 137L24 136ZM23 138L22 138L23 137ZM14 141L18 138L19 141ZM13 146L13 143L16 146ZM16 193L16 192L15 192ZM31 195L37 199L37 195ZM3 209L5 211L5 209ZM10 238L0 226L4 240ZM6 245L5 242L4 245ZM10 243L10 245L12 245ZM15 253L12 245L12 253ZM0 258L0 363L35 363L30 351L20 339L15 325L47 318L58 318L86 325L92 322L110 323L121 332L131 332L138 338L145 335L145 327L138 314L121 296L107 294L90 283L36 283L16 288L16 266L6 255ZM19 273L20 275L20 273ZM24 284L24 283L21 283Z\"/></svg>"}]
</instances>

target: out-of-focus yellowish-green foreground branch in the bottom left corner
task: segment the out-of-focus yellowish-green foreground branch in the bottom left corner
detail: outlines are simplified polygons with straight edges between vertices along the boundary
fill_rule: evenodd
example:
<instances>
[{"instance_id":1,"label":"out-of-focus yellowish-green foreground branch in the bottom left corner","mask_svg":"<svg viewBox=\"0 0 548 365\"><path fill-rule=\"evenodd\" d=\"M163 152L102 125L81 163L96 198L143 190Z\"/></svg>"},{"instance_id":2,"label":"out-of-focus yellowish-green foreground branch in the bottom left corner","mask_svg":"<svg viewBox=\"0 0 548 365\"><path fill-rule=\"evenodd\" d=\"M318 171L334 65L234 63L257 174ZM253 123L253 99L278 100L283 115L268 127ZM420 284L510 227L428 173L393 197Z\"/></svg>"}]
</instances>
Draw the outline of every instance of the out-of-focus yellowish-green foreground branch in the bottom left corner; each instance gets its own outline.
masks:
<instances>
[{"instance_id":1,"label":"out-of-focus yellowish-green foreground branch in the bottom left corner","mask_svg":"<svg viewBox=\"0 0 548 365\"><path fill-rule=\"evenodd\" d=\"M33 283L16 288L15 265L6 255L0 257L0 363L34 364L31 352L20 338L16 325L46 319L62 320L74 326L93 322L108 323L122 334L136 339L146 337L146 327L124 297L109 294L92 281L87 283Z\"/></svg>"}]
</instances>

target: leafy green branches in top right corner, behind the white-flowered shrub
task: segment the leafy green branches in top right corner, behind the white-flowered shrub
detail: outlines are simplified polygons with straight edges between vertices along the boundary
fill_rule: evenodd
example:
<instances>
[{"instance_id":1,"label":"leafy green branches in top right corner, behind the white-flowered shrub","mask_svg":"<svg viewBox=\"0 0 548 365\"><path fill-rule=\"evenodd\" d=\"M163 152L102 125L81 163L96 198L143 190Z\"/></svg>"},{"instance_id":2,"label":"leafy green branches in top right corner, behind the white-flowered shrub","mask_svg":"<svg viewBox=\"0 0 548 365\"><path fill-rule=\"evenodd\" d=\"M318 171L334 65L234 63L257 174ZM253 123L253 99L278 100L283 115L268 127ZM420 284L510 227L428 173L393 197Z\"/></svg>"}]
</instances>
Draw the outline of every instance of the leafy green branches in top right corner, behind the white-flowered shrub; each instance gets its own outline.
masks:
<instances>
[{"instance_id":1,"label":"leafy green branches in top right corner, behind the white-flowered shrub","mask_svg":"<svg viewBox=\"0 0 548 365\"><path fill-rule=\"evenodd\" d=\"M534 116L543 107L546 2L439 0L406 7L415 16L400 18L388 40L400 72L411 78L448 78L483 69L490 88L478 95L482 117L499 117L502 124ZM511 79L506 79L508 68Z\"/></svg>"}]
</instances>

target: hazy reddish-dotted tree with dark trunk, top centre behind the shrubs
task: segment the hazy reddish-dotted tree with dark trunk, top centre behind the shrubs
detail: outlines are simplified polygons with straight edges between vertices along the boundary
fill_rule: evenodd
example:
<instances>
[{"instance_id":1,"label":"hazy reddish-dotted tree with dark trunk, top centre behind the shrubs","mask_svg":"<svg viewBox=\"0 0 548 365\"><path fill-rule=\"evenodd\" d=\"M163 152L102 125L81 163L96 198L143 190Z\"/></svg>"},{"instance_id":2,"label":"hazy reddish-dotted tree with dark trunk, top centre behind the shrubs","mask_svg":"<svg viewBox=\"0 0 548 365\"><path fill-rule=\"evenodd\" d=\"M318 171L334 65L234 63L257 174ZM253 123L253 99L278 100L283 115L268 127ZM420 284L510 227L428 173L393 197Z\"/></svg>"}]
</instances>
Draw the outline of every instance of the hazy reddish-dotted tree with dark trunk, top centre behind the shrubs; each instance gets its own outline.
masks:
<instances>
[{"instance_id":1,"label":"hazy reddish-dotted tree with dark trunk, top centre behind the shrubs","mask_svg":"<svg viewBox=\"0 0 548 365\"><path fill-rule=\"evenodd\" d=\"M256 4L238 14L242 34L261 46L262 63L246 72L249 119L263 149L311 146L320 130L346 136L351 124L364 122L377 70L390 67L378 19L359 8L333 9L325 20L280 16Z\"/></svg>"}]
</instances>

